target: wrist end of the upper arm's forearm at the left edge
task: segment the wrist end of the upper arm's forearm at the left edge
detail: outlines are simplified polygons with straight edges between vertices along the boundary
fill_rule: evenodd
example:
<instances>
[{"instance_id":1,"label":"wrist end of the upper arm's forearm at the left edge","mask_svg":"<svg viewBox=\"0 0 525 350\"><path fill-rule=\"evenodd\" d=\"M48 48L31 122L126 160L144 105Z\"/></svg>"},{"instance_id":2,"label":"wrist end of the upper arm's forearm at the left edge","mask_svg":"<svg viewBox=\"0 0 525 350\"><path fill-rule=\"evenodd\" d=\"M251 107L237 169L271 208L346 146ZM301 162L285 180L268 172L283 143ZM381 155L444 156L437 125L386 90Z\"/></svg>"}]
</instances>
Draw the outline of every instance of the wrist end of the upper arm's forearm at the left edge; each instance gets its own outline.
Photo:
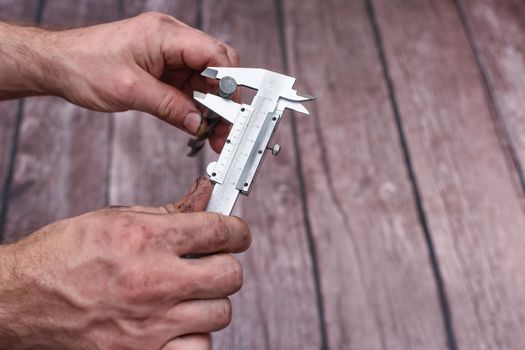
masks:
<instances>
[{"instance_id":1,"label":"wrist end of the upper arm's forearm at the left edge","mask_svg":"<svg viewBox=\"0 0 525 350\"><path fill-rule=\"evenodd\" d=\"M57 94L53 32L0 22L0 99Z\"/></svg>"}]
</instances>

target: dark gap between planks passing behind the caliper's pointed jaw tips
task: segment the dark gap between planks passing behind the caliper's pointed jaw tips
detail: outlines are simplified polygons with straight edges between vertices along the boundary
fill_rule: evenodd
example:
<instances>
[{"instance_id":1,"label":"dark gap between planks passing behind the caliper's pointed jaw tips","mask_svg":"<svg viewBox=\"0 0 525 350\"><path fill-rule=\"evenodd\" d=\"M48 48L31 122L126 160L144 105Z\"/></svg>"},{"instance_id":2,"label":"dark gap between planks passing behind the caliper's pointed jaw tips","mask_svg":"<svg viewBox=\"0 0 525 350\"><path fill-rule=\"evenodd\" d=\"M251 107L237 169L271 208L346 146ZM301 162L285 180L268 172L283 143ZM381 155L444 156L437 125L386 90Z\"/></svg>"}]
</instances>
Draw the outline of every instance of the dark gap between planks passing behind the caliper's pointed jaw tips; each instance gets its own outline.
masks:
<instances>
[{"instance_id":1,"label":"dark gap between planks passing behind the caliper's pointed jaw tips","mask_svg":"<svg viewBox=\"0 0 525 350\"><path fill-rule=\"evenodd\" d=\"M289 74L289 61L288 61L288 50L286 43L286 35L284 34L284 15L283 15L283 4L282 0L274 0L276 19L277 19L277 30L279 34L279 46L281 48L281 60L284 67L285 74ZM315 297L317 302L317 315L319 317L319 334L321 337L321 349L328 350L328 337L326 333L326 320L324 315L323 296L321 292L321 279L319 278L319 266L317 258L317 249L312 234L312 225L310 223L310 214L308 211L308 198L306 196L306 186L303 176L301 152L299 148L299 141L297 136L297 125L295 112L289 111L291 118L292 128L292 142L294 147L294 156L296 164L296 174L299 180L299 190L301 194L301 209L303 212L303 220L306 232L306 241L308 243L308 251L310 253L312 261L312 277L315 285Z\"/></svg>"}]
</instances>

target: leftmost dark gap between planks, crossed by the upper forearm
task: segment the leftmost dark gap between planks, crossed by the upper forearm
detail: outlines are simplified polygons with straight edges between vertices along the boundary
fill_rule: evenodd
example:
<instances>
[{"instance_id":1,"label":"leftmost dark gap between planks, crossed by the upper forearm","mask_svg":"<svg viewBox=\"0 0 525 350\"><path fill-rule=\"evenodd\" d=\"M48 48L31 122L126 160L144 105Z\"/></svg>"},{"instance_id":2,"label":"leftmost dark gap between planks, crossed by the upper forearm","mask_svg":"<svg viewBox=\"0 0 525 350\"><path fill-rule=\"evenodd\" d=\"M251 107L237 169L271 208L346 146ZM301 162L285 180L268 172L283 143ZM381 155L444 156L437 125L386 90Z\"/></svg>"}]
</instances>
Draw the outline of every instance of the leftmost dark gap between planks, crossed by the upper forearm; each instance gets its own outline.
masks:
<instances>
[{"instance_id":1,"label":"leftmost dark gap between planks, crossed by the upper forearm","mask_svg":"<svg viewBox=\"0 0 525 350\"><path fill-rule=\"evenodd\" d=\"M44 13L46 0L38 0L37 7L34 14L33 22L36 25L42 23L42 14ZM7 212L9 210L9 194L11 192L11 183L13 182L13 173L15 168L16 151L18 148L18 139L20 136L20 127L24 116L24 99L20 99L17 103L15 125L11 137L11 145L9 150L9 160L7 164L6 176L2 184L2 198L0 198L0 243L4 240L4 231L6 226Z\"/></svg>"}]
</instances>

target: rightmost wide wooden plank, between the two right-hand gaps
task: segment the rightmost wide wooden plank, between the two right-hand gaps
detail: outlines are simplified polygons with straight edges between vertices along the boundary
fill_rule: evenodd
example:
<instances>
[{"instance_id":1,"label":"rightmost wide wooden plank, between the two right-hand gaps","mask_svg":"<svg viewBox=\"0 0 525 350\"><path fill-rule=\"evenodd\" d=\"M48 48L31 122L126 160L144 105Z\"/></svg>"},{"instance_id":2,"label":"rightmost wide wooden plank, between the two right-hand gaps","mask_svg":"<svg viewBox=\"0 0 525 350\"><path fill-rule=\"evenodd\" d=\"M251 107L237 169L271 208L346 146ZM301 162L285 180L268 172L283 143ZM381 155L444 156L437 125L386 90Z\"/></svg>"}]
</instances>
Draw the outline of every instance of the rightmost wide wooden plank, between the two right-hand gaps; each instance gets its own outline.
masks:
<instances>
[{"instance_id":1,"label":"rightmost wide wooden plank, between the two right-hand gaps","mask_svg":"<svg viewBox=\"0 0 525 350\"><path fill-rule=\"evenodd\" d=\"M458 348L522 348L523 195L457 8L374 4Z\"/></svg>"}]
</instances>

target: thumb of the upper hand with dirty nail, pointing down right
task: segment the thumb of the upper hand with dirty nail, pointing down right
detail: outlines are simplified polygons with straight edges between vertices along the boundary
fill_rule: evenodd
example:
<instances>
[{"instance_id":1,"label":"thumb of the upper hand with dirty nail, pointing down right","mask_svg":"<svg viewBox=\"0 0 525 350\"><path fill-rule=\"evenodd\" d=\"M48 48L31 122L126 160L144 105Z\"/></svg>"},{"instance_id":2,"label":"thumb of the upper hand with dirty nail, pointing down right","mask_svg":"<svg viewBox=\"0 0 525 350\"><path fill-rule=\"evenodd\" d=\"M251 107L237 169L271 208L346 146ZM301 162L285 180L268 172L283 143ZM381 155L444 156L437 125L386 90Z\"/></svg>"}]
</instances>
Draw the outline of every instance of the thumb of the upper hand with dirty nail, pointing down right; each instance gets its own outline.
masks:
<instances>
[{"instance_id":1,"label":"thumb of the upper hand with dirty nail, pointing down right","mask_svg":"<svg viewBox=\"0 0 525 350\"><path fill-rule=\"evenodd\" d=\"M207 123L195 103L182 91L142 72L142 86L133 100L132 108L147 112L182 129L200 136Z\"/></svg>"}]
</instances>

